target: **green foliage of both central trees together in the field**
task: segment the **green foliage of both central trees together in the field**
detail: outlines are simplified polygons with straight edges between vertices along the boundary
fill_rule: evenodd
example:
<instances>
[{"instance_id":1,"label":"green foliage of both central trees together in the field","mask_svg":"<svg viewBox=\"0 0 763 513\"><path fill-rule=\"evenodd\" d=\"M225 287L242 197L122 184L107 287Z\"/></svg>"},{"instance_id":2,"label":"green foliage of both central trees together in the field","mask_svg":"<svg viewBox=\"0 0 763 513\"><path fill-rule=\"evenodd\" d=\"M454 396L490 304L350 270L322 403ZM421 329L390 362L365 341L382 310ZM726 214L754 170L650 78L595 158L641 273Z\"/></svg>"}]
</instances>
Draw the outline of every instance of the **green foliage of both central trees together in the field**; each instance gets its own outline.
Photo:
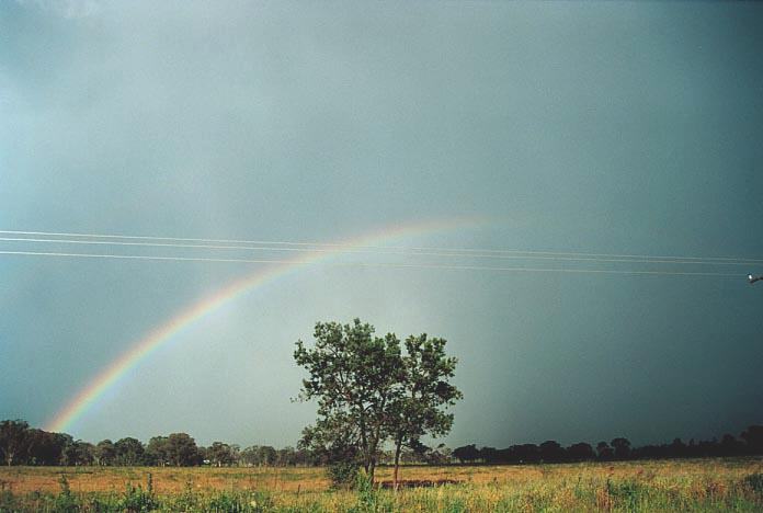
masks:
<instances>
[{"instance_id":1,"label":"green foliage of both central trees together in the field","mask_svg":"<svg viewBox=\"0 0 763 513\"><path fill-rule=\"evenodd\" d=\"M318 420L303 432L300 447L324 463L357 460L373 482L386 441L395 443L397 464L403 444L451 430L453 415L442 408L462 394L448 383L456 360L445 355L444 339L411 335L403 355L394 333L374 337L360 319L317 322L314 338L315 347L297 341L294 352L309 373L299 399L318 400Z\"/></svg>"}]
</instances>

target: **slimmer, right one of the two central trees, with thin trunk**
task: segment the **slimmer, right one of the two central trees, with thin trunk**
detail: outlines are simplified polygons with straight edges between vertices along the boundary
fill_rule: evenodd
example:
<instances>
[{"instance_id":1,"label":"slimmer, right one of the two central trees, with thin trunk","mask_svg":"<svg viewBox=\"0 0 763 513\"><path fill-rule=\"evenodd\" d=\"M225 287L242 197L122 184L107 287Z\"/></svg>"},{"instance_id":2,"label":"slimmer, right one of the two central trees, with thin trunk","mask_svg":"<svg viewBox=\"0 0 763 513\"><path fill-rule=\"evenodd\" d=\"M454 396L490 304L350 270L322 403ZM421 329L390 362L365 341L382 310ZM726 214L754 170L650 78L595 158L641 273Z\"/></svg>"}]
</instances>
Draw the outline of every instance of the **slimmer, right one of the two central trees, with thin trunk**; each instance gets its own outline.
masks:
<instances>
[{"instance_id":1,"label":"slimmer, right one of the two central trees, with thin trunk","mask_svg":"<svg viewBox=\"0 0 763 513\"><path fill-rule=\"evenodd\" d=\"M453 414L442 408L455 404L463 395L448 383L457 360L446 356L445 344L445 339L428 339L426 333L406 339L400 383L388 406L388 431L395 444L395 489L403 444L413 448L421 436L445 435L453 425Z\"/></svg>"}]
</instances>

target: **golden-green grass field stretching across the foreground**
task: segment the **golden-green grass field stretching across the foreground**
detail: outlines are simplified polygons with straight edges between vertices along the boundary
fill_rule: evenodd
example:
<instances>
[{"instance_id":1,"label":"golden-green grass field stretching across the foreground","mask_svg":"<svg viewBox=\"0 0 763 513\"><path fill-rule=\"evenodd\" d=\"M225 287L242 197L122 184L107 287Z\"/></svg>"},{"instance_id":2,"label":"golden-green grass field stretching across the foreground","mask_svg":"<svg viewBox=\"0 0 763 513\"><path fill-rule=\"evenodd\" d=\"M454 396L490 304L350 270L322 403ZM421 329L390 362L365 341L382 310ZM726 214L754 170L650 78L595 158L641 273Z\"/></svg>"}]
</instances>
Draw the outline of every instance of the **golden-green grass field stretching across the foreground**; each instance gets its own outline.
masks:
<instances>
[{"instance_id":1,"label":"golden-green grass field stretching across the foreground","mask_svg":"<svg viewBox=\"0 0 763 513\"><path fill-rule=\"evenodd\" d=\"M341 491L320 468L4 467L0 511L763 511L762 458L405 467L397 493L390 475Z\"/></svg>"}]
</instances>

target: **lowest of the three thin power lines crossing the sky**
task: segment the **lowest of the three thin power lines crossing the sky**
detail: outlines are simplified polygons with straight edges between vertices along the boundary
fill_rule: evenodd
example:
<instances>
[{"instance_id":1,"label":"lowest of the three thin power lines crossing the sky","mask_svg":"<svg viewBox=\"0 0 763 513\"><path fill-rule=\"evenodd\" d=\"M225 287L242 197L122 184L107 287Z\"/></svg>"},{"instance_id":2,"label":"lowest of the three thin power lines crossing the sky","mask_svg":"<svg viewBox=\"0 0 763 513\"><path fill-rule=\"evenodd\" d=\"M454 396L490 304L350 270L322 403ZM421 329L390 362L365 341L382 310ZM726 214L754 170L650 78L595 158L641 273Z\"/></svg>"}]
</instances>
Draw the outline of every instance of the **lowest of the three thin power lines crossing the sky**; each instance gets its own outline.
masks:
<instances>
[{"instance_id":1,"label":"lowest of the three thin power lines crossing the sky","mask_svg":"<svg viewBox=\"0 0 763 513\"><path fill-rule=\"evenodd\" d=\"M441 269L460 271L497 271L497 272L533 272L533 273L595 273L595 274L646 274L672 276L726 276L739 277L738 273L682 272L682 271L635 271L635 270L601 270L601 269L569 269L569 267L497 267L490 265L451 265L451 264L408 264L390 262L309 262L299 260L271 259L209 259L203 256L150 256L144 254L110 254L110 253L64 253L46 251L0 251L0 254L21 256L53 256L83 259L115 259L115 260L150 260L171 262L225 262L225 263L266 263L287 265L332 265L356 267L390 267L390 269Z\"/></svg>"}]
</instances>

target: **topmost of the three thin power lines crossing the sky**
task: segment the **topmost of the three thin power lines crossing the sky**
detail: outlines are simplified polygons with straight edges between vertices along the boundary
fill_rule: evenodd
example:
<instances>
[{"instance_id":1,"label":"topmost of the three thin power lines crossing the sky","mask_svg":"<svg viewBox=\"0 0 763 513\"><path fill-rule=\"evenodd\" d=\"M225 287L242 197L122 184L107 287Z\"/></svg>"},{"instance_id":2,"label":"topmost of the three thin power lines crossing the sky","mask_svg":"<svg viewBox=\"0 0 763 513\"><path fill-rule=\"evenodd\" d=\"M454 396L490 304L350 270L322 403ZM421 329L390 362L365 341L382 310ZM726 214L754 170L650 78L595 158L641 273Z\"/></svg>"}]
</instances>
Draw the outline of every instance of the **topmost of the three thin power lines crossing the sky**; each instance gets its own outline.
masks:
<instances>
[{"instance_id":1,"label":"topmost of the three thin power lines crossing the sky","mask_svg":"<svg viewBox=\"0 0 763 513\"><path fill-rule=\"evenodd\" d=\"M656 261L656 263L669 263L669 261L681 261L679 263L690 263L688 261L697 261L702 263L718 263L721 262L739 262L740 264L754 264L763 263L763 259L747 259L747 258L731 258L731 256L675 256L675 255L649 255L649 254L627 254L627 253L590 253L590 252L576 252L576 251L537 251L537 250L516 250L516 249L489 249L489 248L443 248L443 247L405 247L405 246L369 246L369 244L353 244L353 243L340 243L340 242L295 242L295 241L275 241L275 240L240 240L240 239L203 239L203 238L181 238L181 237L153 237L153 236L125 236L125 235L104 235L104 233L81 233L81 232L54 232L54 231L21 231L21 230L0 230L0 233L8 235L25 235L25 236L47 236L47 237L86 237L94 239L126 239L126 240L149 240L149 241L175 241L175 242L206 242L206 243L220 243L220 244L271 244L271 246L284 246L284 247L311 247L308 251L321 251L321 248L341 248L345 252L351 252L352 250L363 250L363 249L374 249L374 250L400 250L400 251L415 251L417 254L423 251L430 252L443 252L449 253L447 255L456 255L456 253L465 254L479 254L478 258L490 258L489 255L496 254L510 254L510 255L547 255L547 256L576 256L583 258L590 256L593 259L627 259L624 261L638 262L634 259L642 259L649 261ZM8 238L9 240L11 238ZM4 240L4 239L0 239ZM25 239L32 240L32 239ZM56 242L66 243L65 239L56 239ZM98 241L92 241L93 243ZM79 242L83 243L83 242ZM115 242L117 243L117 242ZM124 246L129 246L128 242L122 242ZM138 244L138 243L136 243ZM146 246L149 243L146 242ZM167 244L170 246L170 244ZM196 244L198 247L203 244ZM212 247L209 247L212 248ZM223 248L217 249L250 249L250 248ZM261 248L258 248L261 249ZM264 249L264 248L262 248ZM272 249L275 251L275 248ZM284 248L282 251L286 251ZM294 250L293 250L294 251ZM327 250L322 250L327 251ZM335 251L331 251L335 252ZM360 251L358 251L360 252ZM394 254L394 253L392 253ZM553 260L553 259L548 259ZM571 259L570 259L571 260ZM615 261L616 262L616 261Z\"/></svg>"}]
</instances>

